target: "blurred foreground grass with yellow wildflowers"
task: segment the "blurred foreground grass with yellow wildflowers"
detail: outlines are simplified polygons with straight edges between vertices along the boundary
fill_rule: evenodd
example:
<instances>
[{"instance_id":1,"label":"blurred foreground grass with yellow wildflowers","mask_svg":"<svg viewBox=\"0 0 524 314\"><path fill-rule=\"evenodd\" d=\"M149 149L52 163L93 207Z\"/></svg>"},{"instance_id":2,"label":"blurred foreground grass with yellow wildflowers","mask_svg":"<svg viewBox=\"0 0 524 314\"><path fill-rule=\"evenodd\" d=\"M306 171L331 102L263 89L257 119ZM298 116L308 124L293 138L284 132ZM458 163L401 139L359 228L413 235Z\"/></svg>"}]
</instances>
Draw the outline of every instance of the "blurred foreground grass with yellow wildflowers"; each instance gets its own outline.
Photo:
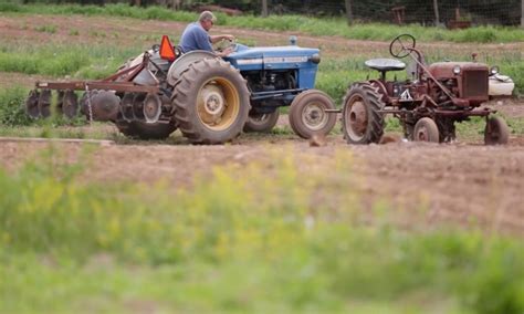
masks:
<instances>
[{"instance_id":1,"label":"blurred foreground grass with yellow wildflowers","mask_svg":"<svg viewBox=\"0 0 524 314\"><path fill-rule=\"evenodd\" d=\"M419 223L422 205L363 212L348 150L329 176L275 151L273 171L219 167L176 191L88 182L61 154L0 170L2 313L524 311L520 239Z\"/></svg>"}]
</instances>

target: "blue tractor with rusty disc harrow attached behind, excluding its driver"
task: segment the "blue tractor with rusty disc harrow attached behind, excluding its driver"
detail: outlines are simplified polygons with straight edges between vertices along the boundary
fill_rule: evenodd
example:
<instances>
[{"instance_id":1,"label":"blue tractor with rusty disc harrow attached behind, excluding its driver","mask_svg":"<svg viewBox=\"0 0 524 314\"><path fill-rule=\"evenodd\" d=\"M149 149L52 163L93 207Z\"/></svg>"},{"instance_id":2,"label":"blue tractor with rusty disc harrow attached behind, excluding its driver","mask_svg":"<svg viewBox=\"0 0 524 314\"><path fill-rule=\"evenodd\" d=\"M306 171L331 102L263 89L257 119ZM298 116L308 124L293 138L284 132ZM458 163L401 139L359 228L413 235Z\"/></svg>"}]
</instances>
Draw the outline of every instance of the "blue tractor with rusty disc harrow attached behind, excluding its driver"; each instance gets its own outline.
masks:
<instances>
[{"instance_id":1,"label":"blue tractor with rusty disc harrow attached behind, excluding its driver","mask_svg":"<svg viewBox=\"0 0 524 314\"><path fill-rule=\"evenodd\" d=\"M161 45L129 60L101 81L38 82L25 106L29 115L55 112L111 121L130 137L161 139L177 128L195 144L221 144L242 130L269 132L279 107L291 106L290 125L303 138L325 135L335 125L332 98L313 90L317 49L234 45L228 57L206 51L186 54L167 36ZM78 101L74 91L84 91Z\"/></svg>"}]
</instances>

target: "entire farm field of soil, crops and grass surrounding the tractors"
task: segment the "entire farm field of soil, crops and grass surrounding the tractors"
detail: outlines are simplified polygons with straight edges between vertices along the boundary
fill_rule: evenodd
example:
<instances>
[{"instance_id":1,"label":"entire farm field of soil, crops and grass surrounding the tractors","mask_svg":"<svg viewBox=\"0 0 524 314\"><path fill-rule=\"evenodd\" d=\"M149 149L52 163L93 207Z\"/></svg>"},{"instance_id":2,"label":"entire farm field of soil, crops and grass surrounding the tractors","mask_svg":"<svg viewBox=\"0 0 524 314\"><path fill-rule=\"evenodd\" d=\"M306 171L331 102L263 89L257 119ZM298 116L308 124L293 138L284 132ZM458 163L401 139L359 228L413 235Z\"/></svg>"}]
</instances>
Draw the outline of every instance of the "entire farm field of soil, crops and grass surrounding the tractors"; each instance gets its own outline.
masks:
<instances>
[{"instance_id":1,"label":"entire farm field of soil, crops and grass surrounding the tractors","mask_svg":"<svg viewBox=\"0 0 524 314\"><path fill-rule=\"evenodd\" d=\"M19 105L34 81L111 74L163 34L176 42L196 15L12 11L0 13L0 135L113 144L0 140L0 312L524 311L521 101L490 104L512 129L503 147L482 145L481 119L449 145L348 146L337 126L310 147L285 111L273 133L222 146L179 132L130 140L108 124L30 122ZM212 33L319 48L317 87L338 105L375 75L365 60L388 56L385 39L239 23ZM523 91L524 42L432 39L420 41L429 61L476 52Z\"/></svg>"}]
</instances>

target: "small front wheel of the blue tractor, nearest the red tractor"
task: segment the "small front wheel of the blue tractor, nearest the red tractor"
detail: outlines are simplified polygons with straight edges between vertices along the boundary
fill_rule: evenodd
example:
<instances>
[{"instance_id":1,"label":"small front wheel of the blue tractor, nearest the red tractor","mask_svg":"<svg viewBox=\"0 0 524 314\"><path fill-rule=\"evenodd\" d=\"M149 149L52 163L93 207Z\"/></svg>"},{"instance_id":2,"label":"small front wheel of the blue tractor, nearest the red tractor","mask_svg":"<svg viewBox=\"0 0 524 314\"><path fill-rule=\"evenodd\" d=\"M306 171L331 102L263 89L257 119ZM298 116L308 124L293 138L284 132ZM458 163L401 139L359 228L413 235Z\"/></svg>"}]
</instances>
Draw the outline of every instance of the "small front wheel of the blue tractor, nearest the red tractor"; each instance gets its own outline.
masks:
<instances>
[{"instance_id":1,"label":"small front wheel of the blue tractor, nearest the red tractor","mask_svg":"<svg viewBox=\"0 0 524 314\"><path fill-rule=\"evenodd\" d=\"M335 109L326 93L317 90L302 92L291 103L291 128L305 139L313 135L327 135L336 124L336 114L326 113L326 109Z\"/></svg>"}]
</instances>

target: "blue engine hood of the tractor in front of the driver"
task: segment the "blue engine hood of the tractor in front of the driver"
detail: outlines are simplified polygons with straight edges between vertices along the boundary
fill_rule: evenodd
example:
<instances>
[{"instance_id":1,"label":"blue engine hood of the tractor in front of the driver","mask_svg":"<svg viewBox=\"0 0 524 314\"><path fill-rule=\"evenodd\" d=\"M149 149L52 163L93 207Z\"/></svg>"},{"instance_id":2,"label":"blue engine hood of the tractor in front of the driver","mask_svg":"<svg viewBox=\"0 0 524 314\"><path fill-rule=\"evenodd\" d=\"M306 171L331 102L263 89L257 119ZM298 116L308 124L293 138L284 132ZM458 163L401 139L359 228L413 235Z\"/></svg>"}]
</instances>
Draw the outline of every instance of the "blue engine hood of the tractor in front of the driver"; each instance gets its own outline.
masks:
<instances>
[{"instance_id":1,"label":"blue engine hood of the tractor in front of the driver","mask_svg":"<svg viewBox=\"0 0 524 314\"><path fill-rule=\"evenodd\" d=\"M234 52L224 60L241 71L316 69L321 62L318 52L318 49L296 45L249 48L237 44Z\"/></svg>"}]
</instances>

